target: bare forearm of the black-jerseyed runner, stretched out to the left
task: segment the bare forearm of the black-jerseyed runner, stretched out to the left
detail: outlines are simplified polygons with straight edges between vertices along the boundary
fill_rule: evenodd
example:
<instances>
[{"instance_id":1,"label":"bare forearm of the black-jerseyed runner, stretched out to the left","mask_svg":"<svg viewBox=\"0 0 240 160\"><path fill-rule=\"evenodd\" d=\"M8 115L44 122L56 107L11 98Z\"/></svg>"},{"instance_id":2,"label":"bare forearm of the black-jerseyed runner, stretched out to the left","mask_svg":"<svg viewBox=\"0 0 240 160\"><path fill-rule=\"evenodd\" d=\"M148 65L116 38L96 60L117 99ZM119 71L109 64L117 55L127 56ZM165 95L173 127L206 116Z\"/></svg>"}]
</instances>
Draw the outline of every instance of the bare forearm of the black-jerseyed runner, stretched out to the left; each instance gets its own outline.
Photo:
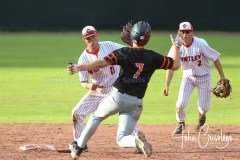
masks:
<instances>
[{"instance_id":1,"label":"bare forearm of the black-jerseyed runner, stretched out to the left","mask_svg":"<svg viewBox=\"0 0 240 160\"><path fill-rule=\"evenodd\" d=\"M86 63L86 64L81 64L78 65L78 71L89 71L89 70L97 70L99 68L103 68L110 65L107 61L105 61L104 59L100 59L100 60L94 60L90 63Z\"/></svg>"}]
</instances>

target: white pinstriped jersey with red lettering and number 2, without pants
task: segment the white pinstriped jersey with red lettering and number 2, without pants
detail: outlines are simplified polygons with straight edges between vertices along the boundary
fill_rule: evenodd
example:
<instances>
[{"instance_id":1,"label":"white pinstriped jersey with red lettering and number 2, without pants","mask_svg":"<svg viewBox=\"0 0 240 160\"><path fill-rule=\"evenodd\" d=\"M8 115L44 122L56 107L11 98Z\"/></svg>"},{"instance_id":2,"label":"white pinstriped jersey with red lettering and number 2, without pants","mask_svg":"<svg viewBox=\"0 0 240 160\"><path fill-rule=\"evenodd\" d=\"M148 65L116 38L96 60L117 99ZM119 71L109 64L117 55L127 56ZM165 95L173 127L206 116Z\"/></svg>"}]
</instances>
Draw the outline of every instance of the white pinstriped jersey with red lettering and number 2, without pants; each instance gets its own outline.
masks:
<instances>
[{"instance_id":1,"label":"white pinstriped jersey with red lettering and number 2, without pants","mask_svg":"<svg viewBox=\"0 0 240 160\"><path fill-rule=\"evenodd\" d=\"M203 76L211 72L209 60L216 61L220 53L212 49L204 39L193 37L191 46L180 47L183 73L189 76ZM168 56L172 56L170 50Z\"/></svg>"}]
</instances>

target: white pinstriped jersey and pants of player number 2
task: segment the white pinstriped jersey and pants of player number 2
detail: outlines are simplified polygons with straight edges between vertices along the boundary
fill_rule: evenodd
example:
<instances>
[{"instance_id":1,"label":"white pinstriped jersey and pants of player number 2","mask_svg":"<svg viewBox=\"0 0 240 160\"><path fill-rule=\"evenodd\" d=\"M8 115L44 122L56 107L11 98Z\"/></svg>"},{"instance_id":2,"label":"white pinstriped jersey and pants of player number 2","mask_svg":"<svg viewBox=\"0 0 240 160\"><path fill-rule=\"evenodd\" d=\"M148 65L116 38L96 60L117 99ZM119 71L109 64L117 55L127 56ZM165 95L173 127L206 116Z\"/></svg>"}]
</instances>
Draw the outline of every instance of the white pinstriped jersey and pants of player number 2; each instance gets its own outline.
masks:
<instances>
[{"instance_id":1,"label":"white pinstriped jersey and pants of player number 2","mask_svg":"<svg viewBox=\"0 0 240 160\"><path fill-rule=\"evenodd\" d=\"M198 111L201 114L210 109L211 99L211 66L209 60L216 61L220 53L212 49L204 39L193 37L190 46L180 47L180 61L183 70L182 82L176 103L178 122L185 121L185 107L194 88L198 88ZM172 56L172 50L169 56Z\"/></svg>"}]
</instances>

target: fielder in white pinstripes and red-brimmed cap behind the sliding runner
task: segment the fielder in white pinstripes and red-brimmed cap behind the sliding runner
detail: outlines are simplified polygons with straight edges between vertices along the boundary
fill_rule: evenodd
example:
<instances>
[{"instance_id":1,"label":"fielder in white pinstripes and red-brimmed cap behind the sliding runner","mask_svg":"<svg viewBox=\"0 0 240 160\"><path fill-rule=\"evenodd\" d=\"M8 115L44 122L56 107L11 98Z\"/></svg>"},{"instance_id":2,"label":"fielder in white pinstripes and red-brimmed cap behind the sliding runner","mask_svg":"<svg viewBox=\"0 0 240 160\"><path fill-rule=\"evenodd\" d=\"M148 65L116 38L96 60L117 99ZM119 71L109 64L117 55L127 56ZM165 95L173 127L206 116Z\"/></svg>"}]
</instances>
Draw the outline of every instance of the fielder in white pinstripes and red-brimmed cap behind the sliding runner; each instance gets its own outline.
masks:
<instances>
[{"instance_id":1,"label":"fielder in white pinstripes and red-brimmed cap behind the sliding runner","mask_svg":"<svg viewBox=\"0 0 240 160\"><path fill-rule=\"evenodd\" d=\"M86 43L86 49L81 54L78 64L89 63L96 59L102 59L112 51L124 47L123 45L104 41L98 42L98 32L93 26L86 26L82 30L82 38ZM118 78L120 72L119 66L110 65L99 70L78 72L81 85L89 89L88 93L79 101L72 110L73 116L73 135L76 141L83 129L86 115L94 112L99 103L113 90L113 83ZM89 77L91 76L91 82ZM133 135L137 134L138 127L135 127ZM121 142L117 140L121 146ZM85 147L87 150L87 147Z\"/></svg>"}]
</instances>

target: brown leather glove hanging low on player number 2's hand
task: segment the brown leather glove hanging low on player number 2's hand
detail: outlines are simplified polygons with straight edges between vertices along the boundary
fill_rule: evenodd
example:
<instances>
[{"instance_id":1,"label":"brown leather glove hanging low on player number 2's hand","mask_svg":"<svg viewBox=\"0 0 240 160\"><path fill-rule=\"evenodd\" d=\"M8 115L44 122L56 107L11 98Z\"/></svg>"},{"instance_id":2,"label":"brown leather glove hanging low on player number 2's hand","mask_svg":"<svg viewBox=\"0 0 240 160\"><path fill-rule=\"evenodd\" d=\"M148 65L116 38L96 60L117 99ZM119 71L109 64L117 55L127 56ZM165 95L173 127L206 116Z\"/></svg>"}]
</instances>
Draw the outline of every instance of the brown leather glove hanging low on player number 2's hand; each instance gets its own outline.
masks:
<instances>
[{"instance_id":1,"label":"brown leather glove hanging low on player number 2's hand","mask_svg":"<svg viewBox=\"0 0 240 160\"><path fill-rule=\"evenodd\" d=\"M228 79L221 79L215 88L213 88L213 94L220 98L228 97L232 92L232 86Z\"/></svg>"}]
</instances>

